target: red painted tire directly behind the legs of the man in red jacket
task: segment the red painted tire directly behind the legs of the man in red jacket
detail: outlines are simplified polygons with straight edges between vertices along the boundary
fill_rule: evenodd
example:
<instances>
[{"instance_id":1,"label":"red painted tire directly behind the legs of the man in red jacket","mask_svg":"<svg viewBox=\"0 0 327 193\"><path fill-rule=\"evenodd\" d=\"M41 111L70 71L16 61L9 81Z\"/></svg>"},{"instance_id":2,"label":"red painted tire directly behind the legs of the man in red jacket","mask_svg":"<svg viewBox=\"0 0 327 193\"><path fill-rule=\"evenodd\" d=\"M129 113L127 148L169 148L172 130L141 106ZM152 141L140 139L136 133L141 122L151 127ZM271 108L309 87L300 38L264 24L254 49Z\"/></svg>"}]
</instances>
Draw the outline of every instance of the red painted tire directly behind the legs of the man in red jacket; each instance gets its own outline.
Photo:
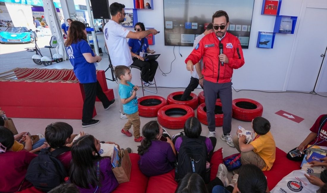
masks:
<instances>
[{"instance_id":1,"label":"red painted tire directly behind the legs of the man in red jacket","mask_svg":"<svg viewBox=\"0 0 327 193\"><path fill-rule=\"evenodd\" d=\"M201 105L198 106L197 116L198 116L198 120L201 123L203 123L205 125L208 125L207 110L206 110L205 103L202 103ZM224 114L223 114L223 112L221 110L221 103L216 102L216 106L215 106L215 123L216 123L216 127L223 126L223 119L224 119Z\"/></svg>"}]
</instances>

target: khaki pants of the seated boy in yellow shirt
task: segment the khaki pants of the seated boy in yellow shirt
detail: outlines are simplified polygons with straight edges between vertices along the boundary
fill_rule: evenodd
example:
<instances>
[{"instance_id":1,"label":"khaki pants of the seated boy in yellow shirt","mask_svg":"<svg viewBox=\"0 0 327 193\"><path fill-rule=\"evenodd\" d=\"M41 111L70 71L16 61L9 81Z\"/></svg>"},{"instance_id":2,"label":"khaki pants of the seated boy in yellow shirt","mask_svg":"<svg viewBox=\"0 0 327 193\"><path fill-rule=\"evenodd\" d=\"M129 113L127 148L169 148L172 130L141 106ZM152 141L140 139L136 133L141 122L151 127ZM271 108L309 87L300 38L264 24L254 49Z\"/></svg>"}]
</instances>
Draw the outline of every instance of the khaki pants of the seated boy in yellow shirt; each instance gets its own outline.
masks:
<instances>
[{"instance_id":1,"label":"khaki pants of the seated boy in yellow shirt","mask_svg":"<svg viewBox=\"0 0 327 193\"><path fill-rule=\"evenodd\" d=\"M235 135L233 137L233 143L235 145L235 148L239 153L241 153L241 163L242 165L245 164L254 164L258 166L260 169L263 169L266 166L265 161L255 152L241 152L240 145L238 143L238 137Z\"/></svg>"}]
</instances>

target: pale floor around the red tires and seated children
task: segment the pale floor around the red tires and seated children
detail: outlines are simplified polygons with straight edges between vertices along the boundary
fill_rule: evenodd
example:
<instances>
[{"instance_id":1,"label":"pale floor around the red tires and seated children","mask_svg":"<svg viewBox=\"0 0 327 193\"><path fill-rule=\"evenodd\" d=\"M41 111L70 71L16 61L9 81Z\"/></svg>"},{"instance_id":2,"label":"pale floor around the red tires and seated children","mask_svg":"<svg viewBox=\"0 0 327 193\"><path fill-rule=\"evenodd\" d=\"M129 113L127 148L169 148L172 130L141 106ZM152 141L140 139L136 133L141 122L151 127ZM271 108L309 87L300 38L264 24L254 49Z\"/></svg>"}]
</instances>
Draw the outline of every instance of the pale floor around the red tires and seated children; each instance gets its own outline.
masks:
<instances>
[{"instance_id":1,"label":"pale floor around the red tires and seated children","mask_svg":"<svg viewBox=\"0 0 327 193\"><path fill-rule=\"evenodd\" d=\"M104 54L105 55L105 54ZM105 70L108 67L108 58L105 58L99 63L97 67L98 70ZM46 68L57 68L57 69L72 69L69 61L64 61L58 64L48 66ZM109 70L110 71L110 70ZM158 70L159 71L159 70ZM156 76L161 76L161 73L157 71ZM140 86L139 72L137 70L132 70L133 80L132 83ZM110 72L106 72L106 76L111 78ZM107 81L108 88L114 89L114 94L117 98L117 84L112 81ZM183 91L184 88L158 88L158 93L156 95L167 97L168 94L175 91ZM194 93L198 94L202 89L197 88ZM145 92L146 95L153 95L153 93ZM327 93L319 93L322 95L327 95ZM142 95L141 91L138 91L138 95ZM288 152L292 148L298 146L303 139L309 134L309 128L315 122L317 117L321 114L327 113L327 98L321 97L313 94L302 94L302 93L265 93L258 91L233 91L233 99L236 98L250 98L260 102L264 107L263 117L271 123L271 132L275 138L276 145L285 152ZM136 143L133 137L127 137L123 135L120 130L126 123L126 119L120 119L119 105L116 101L109 110L105 111L100 102L96 102L95 108L97 110L97 115L94 119L100 120L100 123L87 127L81 127L81 120L57 120L57 119L23 119L23 118L13 118L16 128L19 132L29 131L31 134L44 133L44 129L47 124L55 121L64 121L69 123L74 128L74 133L79 131L85 131L89 134L94 135L99 140L104 141L114 141L120 145L121 148L130 147L134 153L137 153L137 146L140 143ZM3 109L6 111L6 109ZM284 117L276 115L275 113L279 110L284 110L286 112L295 114L304 120L300 123L290 121ZM195 111L196 112L196 111ZM144 118L141 117L141 128L143 125L156 118ZM237 126L250 130L251 123L238 121L232 119L232 135L237 130ZM132 131L132 130L131 130ZM168 129L168 132L173 135L180 130ZM142 133L142 132L141 132ZM208 133L208 127L202 124L202 135L206 136ZM230 154L236 153L236 149L229 147L226 142L220 139L222 135L222 127L216 128L217 145L215 150L223 148L223 156L228 156Z\"/></svg>"}]
</instances>

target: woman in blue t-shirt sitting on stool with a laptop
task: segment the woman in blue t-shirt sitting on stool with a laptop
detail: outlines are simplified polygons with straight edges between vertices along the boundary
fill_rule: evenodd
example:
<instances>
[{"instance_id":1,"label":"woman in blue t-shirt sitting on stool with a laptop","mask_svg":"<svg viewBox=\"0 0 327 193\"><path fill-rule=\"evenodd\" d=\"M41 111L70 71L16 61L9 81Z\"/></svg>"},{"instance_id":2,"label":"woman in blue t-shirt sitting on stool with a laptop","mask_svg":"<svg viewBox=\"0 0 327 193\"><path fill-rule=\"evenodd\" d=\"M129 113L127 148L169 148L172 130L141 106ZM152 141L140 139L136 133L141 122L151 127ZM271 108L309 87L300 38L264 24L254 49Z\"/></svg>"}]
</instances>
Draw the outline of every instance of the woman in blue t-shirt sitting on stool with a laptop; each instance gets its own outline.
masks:
<instances>
[{"instance_id":1,"label":"woman in blue t-shirt sitting on stool with a laptop","mask_svg":"<svg viewBox=\"0 0 327 193\"><path fill-rule=\"evenodd\" d=\"M134 26L134 30L145 31L144 24L139 22ZM154 75L156 74L158 68L158 62L156 60L144 61L144 58L148 53L154 54L153 50L149 49L149 43L146 38L142 39L129 39L128 45L130 49L130 53L133 57L134 66L138 66L142 68L142 83L144 86L148 87L152 85L152 81Z\"/></svg>"}]
</instances>

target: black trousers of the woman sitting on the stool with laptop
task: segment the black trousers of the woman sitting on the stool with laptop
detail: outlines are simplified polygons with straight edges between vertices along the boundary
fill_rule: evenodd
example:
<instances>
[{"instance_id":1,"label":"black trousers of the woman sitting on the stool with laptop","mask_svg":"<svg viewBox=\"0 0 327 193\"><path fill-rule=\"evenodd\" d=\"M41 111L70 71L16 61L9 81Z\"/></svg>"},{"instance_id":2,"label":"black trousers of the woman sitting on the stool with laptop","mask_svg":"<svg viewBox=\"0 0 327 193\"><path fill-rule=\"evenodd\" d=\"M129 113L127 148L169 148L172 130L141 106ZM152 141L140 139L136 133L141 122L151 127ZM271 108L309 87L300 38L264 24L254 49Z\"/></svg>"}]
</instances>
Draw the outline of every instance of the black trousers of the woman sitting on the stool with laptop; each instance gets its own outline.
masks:
<instances>
[{"instance_id":1,"label":"black trousers of the woman sitting on the stool with laptop","mask_svg":"<svg viewBox=\"0 0 327 193\"><path fill-rule=\"evenodd\" d=\"M141 77L144 82L153 81L154 75L156 75L158 68L158 62L156 60L142 61L134 58L132 65L142 68Z\"/></svg>"}]
</instances>

